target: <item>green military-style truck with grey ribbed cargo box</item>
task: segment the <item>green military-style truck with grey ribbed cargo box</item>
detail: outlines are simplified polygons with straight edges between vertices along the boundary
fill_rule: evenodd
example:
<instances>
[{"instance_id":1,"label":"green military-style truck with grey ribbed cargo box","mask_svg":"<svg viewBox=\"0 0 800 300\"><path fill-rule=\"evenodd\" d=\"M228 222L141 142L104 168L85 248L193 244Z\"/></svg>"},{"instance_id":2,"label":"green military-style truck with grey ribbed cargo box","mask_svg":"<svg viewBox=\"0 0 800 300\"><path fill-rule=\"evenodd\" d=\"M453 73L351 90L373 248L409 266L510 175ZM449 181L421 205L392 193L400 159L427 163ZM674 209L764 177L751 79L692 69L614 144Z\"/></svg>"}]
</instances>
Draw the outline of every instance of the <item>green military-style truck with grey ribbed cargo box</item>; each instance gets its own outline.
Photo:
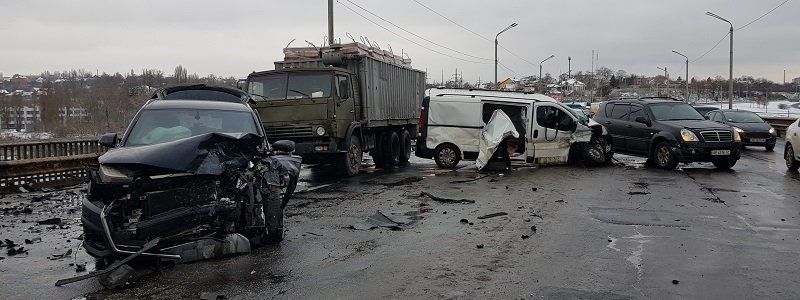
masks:
<instances>
[{"instance_id":1,"label":"green military-style truck with grey ribbed cargo box","mask_svg":"<svg viewBox=\"0 0 800 300\"><path fill-rule=\"evenodd\" d=\"M304 164L335 164L346 176L358 174L364 152L380 168L408 163L425 72L361 43L284 55L245 83L269 139L292 140Z\"/></svg>"}]
</instances>

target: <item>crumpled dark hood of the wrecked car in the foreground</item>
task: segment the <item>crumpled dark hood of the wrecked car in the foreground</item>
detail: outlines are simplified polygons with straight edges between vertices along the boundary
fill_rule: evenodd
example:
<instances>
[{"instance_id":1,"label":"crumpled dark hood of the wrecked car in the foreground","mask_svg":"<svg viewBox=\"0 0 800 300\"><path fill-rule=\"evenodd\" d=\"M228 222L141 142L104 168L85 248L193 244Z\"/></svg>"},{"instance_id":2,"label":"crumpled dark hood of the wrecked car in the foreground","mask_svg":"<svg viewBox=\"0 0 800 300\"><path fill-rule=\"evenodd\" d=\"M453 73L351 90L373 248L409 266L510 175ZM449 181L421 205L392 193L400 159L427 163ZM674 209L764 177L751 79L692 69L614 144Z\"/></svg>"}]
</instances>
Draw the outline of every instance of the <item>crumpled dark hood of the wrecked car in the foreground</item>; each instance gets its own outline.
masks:
<instances>
[{"instance_id":1,"label":"crumpled dark hood of the wrecked car in the foreground","mask_svg":"<svg viewBox=\"0 0 800 300\"><path fill-rule=\"evenodd\" d=\"M255 153L263 140L253 133L207 133L161 144L114 148L101 155L98 162L219 175L226 164L246 164L247 157Z\"/></svg>"}]
</instances>

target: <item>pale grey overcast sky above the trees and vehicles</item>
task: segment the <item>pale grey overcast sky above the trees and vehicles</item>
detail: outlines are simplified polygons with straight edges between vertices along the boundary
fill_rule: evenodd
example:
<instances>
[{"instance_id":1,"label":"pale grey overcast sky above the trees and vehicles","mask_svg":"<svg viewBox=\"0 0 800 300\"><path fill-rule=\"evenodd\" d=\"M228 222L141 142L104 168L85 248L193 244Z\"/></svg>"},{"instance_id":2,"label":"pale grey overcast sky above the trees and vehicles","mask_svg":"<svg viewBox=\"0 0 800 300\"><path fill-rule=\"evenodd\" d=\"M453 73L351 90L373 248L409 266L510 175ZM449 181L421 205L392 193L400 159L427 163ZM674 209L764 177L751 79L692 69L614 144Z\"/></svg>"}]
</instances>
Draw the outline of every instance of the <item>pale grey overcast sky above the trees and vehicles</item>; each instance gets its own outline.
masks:
<instances>
[{"instance_id":1,"label":"pale grey overcast sky above the trees and vehicles","mask_svg":"<svg viewBox=\"0 0 800 300\"><path fill-rule=\"evenodd\" d=\"M464 79L491 80L493 44L425 9L414 0L349 0L404 29L467 57L429 44L360 11L348 0L335 3L335 36L349 32L369 37L383 48L410 54L415 68L440 80L456 68ZM512 22L519 26L500 36L501 45L526 61L500 50L499 77L538 74L538 63L550 54L544 73L591 69L591 53L600 66L642 75L683 76L683 59L695 59L710 49L728 25L705 15L713 11L735 27L757 18L784 0L540 0L474 1L417 0L457 23L493 39ZM0 72L38 74L44 70L84 68L100 72L139 73L159 68L171 74L178 64L189 73L244 77L272 68L282 48L305 40L317 45L327 34L326 0L292 1L30 1L1 0ZM751 75L782 82L800 77L800 3L789 1L772 14L734 34L734 76ZM471 63L434 53L364 20L344 5L420 44ZM532 63L529 63L532 62ZM690 65L690 76L728 74L728 41Z\"/></svg>"}]
</instances>

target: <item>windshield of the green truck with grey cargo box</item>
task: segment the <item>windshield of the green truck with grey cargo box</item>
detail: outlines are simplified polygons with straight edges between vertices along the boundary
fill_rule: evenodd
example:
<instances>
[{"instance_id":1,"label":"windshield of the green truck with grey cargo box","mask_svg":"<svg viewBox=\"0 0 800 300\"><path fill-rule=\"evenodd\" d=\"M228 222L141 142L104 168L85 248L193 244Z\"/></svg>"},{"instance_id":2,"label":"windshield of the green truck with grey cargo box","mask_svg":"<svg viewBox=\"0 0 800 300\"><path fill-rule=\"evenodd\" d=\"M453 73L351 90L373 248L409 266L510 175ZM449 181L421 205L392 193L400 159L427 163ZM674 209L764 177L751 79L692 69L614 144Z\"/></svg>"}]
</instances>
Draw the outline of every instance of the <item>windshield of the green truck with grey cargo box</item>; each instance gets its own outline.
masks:
<instances>
[{"instance_id":1,"label":"windshield of the green truck with grey cargo box","mask_svg":"<svg viewBox=\"0 0 800 300\"><path fill-rule=\"evenodd\" d=\"M328 72L290 72L255 76L249 79L247 91L255 100L311 99L331 96Z\"/></svg>"}]
</instances>

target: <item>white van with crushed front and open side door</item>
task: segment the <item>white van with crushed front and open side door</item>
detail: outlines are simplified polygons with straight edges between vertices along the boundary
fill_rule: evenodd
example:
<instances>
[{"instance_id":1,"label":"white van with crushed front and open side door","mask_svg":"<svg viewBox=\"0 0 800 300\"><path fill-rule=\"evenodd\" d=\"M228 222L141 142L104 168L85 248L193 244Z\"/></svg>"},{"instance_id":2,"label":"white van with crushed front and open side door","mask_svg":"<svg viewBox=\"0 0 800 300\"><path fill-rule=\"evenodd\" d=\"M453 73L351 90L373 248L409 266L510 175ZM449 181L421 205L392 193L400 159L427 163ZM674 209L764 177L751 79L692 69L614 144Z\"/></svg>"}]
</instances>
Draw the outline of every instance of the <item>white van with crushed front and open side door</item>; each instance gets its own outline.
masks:
<instances>
[{"instance_id":1,"label":"white van with crushed front and open side door","mask_svg":"<svg viewBox=\"0 0 800 300\"><path fill-rule=\"evenodd\" d=\"M441 168L478 157L481 130L495 110L512 121L521 155L512 161L537 165L611 159L606 129L542 94L479 89L429 89L422 101L416 156L434 159ZM505 151L501 149L500 151Z\"/></svg>"}]
</instances>

